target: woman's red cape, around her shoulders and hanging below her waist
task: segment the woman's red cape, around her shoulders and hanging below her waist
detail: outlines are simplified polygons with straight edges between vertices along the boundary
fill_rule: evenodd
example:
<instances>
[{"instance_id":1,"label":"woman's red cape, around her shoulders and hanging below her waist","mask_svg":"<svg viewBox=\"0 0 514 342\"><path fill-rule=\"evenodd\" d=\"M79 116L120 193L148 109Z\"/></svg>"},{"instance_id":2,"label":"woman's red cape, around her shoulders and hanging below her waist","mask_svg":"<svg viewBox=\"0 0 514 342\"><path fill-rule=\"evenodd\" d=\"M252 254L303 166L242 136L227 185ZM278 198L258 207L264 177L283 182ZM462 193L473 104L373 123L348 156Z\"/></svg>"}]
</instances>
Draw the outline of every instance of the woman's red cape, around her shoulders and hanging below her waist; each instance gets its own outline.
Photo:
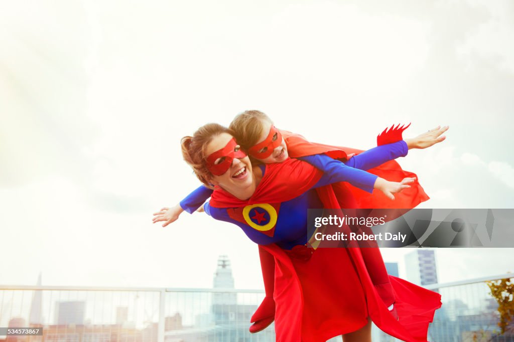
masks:
<instances>
[{"instance_id":1,"label":"woman's red cape, around her shoulders and hanging below her waist","mask_svg":"<svg viewBox=\"0 0 514 342\"><path fill-rule=\"evenodd\" d=\"M342 148L330 148L344 152ZM353 151L348 149L349 153ZM376 169L381 172L380 168ZM405 172L399 168L395 173ZM223 189L216 189L211 205L243 207L253 203L281 203L299 196L319 177L320 172L310 164L289 159L284 163L266 165L265 175L249 200L239 200ZM351 187L344 191L347 189ZM428 198L423 189L420 190L424 196L419 196L417 191L418 198L411 199L409 203L419 203ZM324 186L317 191L324 207L341 207L332 186ZM390 276L399 316L396 320L373 286L358 248L318 248L306 260L276 244L260 247L273 255L275 261L273 299L276 302L277 341L326 341L362 328L368 317L378 328L399 339L427 341L429 323L435 310L441 306L438 293Z\"/></svg>"}]
</instances>

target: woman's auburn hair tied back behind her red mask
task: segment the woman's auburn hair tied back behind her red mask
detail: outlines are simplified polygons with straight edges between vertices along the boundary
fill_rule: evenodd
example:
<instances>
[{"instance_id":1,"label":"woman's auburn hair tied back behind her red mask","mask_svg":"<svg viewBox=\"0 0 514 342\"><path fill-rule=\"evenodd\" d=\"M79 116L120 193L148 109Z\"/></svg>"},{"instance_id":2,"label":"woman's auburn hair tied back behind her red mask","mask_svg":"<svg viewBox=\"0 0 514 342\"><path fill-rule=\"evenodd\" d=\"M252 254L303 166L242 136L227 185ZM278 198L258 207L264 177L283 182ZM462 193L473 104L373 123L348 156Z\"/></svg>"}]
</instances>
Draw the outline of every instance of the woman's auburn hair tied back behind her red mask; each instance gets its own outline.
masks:
<instances>
[{"instance_id":1,"label":"woman's auburn hair tied back behind her red mask","mask_svg":"<svg viewBox=\"0 0 514 342\"><path fill-rule=\"evenodd\" d=\"M230 128L217 123L209 123L198 128L193 136L186 136L180 140L182 157L191 166L200 182L211 189L214 187L209 183L212 174L207 168L208 156L205 155L205 150L211 140L222 133L234 136L234 132Z\"/></svg>"}]
</instances>

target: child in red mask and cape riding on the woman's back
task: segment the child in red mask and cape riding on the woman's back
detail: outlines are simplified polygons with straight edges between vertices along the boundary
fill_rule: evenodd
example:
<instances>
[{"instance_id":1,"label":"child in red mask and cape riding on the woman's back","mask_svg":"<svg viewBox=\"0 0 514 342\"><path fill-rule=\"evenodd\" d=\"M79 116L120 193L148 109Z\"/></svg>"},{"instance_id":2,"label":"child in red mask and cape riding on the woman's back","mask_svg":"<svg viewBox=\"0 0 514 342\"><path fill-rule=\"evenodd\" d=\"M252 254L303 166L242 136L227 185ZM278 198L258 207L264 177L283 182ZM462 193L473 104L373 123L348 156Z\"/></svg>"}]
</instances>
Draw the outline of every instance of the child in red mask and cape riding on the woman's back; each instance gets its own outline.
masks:
<instances>
[{"instance_id":1,"label":"child in red mask and cape riding on the woman's back","mask_svg":"<svg viewBox=\"0 0 514 342\"><path fill-rule=\"evenodd\" d=\"M401 141L402 129L391 130L388 134L383 134L379 137L378 140L383 144L382 146L348 159L346 158L346 152L359 153L360 150L309 143L301 136L276 129L272 125L271 120L260 111L246 111L238 115L232 121L230 128L234 131L237 142L248 151L254 163L281 163L291 155L292 157L300 157L300 159L313 164L324 172L334 172L335 169L342 170L347 175L347 181L357 187L347 187L343 183L334 186L340 205L345 208L387 208L392 207L393 203L394 207L412 208L421 201L427 200L428 196L426 196L417 182L413 183L412 186L400 183L402 188L406 189L402 193L397 194L395 199L392 193L398 190L396 188L397 184L377 177L377 175L388 179L395 178L397 181L408 177L415 177L414 174L403 172L395 162L390 162L378 169L371 170L374 175L358 169L370 169L397 157L405 156L409 148L425 148L443 141L444 137L439 136L447 129L447 127L437 128L429 131L428 134L406 141ZM395 142L395 140L398 141ZM391 142L391 144L384 144L386 142ZM343 164L331 159L331 157L346 161ZM244 172L244 170L241 172ZM370 184L373 184L373 186L371 187ZM367 191L369 194L366 194L359 188ZM379 189L383 195L373 192L373 188ZM161 212L156 213L157 216L154 218L154 222L166 221L163 226L168 225L175 221L182 211L186 210L191 213L196 210L198 206L210 197L211 193L211 189L205 186L199 187L174 208L163 208ZM392 199L395 199L395 201L391 202ZM262 244L266 244L266 241L263 240ZM361 252L377 292L383 302L392 310L393 315L396 315L392 305L394 295L378 248L365 248L361 249ZM272 256L261 248L260 255L266 297L262 305L252 316L251 321L255 322L255 324L250 327L250 332L264 329L271 324L274 316L274 301L272 298L274 261Z\"/></svg>"}]
</instances>

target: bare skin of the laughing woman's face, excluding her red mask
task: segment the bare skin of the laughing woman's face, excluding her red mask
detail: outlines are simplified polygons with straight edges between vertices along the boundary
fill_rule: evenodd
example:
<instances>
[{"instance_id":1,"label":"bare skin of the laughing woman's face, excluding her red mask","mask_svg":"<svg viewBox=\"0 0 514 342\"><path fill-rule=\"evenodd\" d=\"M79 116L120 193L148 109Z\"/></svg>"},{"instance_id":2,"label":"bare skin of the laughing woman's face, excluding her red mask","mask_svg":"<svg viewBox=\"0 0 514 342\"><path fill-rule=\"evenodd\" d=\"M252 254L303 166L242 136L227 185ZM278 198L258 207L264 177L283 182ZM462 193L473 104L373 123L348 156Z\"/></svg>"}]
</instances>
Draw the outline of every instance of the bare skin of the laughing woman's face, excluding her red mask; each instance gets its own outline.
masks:
<instances>
[{"instance_id":1,"label":"bare skin of the laughing woman's face, excluding her red mask","mask_svg":"<svg viewBox=\"0 0 514 342\"><path fill-rule=\"evenodd\" d=\"M222 133L212 138L211 142L206 147L207 158L211 154L223 149L232 140L232 136L228 133ZM234 147L238 149L240 146ZM213 163L215 165L222 163L226 159L225 156L219 156ZM234 158L228 170L219 176L212 176L209 180L214 185L219 185L231 194L244 191L244 189L253 185L254 178L252 175L252 165L248 156L244 158Z\"/></svg>"}]
</instances>

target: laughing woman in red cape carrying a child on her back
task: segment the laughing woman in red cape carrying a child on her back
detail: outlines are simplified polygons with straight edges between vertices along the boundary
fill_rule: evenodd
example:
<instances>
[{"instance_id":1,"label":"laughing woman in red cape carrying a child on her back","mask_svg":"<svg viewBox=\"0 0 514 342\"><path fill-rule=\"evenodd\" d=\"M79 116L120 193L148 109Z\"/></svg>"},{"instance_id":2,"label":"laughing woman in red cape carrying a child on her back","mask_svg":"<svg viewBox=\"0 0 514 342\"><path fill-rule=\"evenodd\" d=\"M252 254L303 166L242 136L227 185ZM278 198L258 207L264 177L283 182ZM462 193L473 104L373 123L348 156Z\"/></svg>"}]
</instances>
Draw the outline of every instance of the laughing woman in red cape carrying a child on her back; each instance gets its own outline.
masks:
<instances>
[{"instance_id":1,"label":"laughing woman in red cape carrying a child on her back","mask_svg":"<svg viewBox=\"0 0 514 342\"><path fill-rule=\"evenodd\" d=\"M303 220L295 223L297 226L281 220L288 215L305 216L308 207L321 207L314 188L344 179L322 175L297 160L253 168L230 131L219 125L206 125L193 137L184 138L182 151L198 179L216 186L210 204L205 206L213 218L239 225L252 238L255 234L251 225L245 225L245 211L248 216L248 210L262 203L270 208L270 221L271 216L275 221L268 233L275 241L264 247L274 256L278 271L274 292L277 340L324 341L340 334L344 341L370 340L369 316L396 337L426 340L428 322L440 306L438 294L392 279L398 289L398 322L378 300L357 249L318 249L313 253L304 246ZM391 182L395 183L391 192L401 191L412 181Z\"/></svg>"}]
</instances>

